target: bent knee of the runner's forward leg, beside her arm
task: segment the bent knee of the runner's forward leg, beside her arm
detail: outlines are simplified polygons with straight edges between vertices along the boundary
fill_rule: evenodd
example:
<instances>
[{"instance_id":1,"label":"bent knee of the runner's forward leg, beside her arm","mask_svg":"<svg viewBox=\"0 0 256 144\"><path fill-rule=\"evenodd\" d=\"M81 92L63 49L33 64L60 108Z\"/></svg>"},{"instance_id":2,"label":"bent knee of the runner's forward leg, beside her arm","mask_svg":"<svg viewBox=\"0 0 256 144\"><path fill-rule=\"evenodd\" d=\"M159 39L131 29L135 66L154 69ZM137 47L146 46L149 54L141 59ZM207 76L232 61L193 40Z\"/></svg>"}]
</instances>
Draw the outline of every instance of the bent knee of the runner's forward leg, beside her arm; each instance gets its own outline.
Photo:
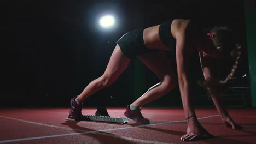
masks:
<instances>
[{"instance_id":1,"label":"bent knee of the runner's forward leg, beside her arm","mask_svg":"<svg viewBox=\"0 0 256 144\"><path fill-rule=\"evenodd\" d=\"M177 79L174 76L167 75L161 81L161 87L165 93L172 91L177 86Z\"/></svg>"}]
</instances>

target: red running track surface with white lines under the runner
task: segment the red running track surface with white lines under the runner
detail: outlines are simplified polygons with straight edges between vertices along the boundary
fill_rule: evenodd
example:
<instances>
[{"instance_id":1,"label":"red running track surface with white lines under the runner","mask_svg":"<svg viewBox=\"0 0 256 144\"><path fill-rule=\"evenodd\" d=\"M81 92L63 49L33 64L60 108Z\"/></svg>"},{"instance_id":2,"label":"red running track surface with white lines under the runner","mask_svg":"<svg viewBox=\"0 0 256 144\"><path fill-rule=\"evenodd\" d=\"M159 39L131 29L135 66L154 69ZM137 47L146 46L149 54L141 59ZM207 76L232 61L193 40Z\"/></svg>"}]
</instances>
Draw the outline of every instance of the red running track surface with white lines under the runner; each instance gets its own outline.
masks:
<instances>
[{"instance_id":1,"label":"red running track surface with white lines under the runner","mask_svg":"<svg viewBox=\"0 0 256 144\"><path fill-rule=\"evenodd\" d=\"M183 142L187 131L182 109L143 108L150 125L66 121L68 108L0 109L0 143L256 143L256 109L229 109L243 129L226 128L215 109L196 109L197 118L213 139ZM124 117L123 108L107 108L110 116ZM95 115L96 108L84 108Z\"/></svg>"}]
</instances>

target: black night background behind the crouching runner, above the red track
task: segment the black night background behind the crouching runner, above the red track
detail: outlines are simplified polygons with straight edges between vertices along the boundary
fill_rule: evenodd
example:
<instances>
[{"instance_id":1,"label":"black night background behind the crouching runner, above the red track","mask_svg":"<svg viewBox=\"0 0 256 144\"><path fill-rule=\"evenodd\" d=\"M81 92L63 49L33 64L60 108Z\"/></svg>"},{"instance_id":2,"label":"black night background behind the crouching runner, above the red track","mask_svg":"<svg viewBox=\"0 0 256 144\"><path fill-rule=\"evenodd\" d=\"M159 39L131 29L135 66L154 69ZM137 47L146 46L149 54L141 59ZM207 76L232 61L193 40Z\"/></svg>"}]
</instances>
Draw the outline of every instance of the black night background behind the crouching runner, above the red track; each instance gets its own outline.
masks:
<instances>
[{"instance_id":1,"label":"black night background behind the crouching runner, above the red track","mask_svg":"<svg viewBox=\"0 0 256 144\"><path fill-rule=\"evenodd\" d=\"M230 87L249 86L243 11L243 1L57 0L2 3L1 106L69 106L74 95L80 94L90 81L103 74L115 41L123 34L173 18L196 19L207 27L226 25L234 29L243 49L241 63ZM108 13L114 14L117 27L110 30L99 28L98 18ZM197 79L202 78L197 53L191 57L191 62L194 103L211 106L206 93L196 85ZM214 64L214 73L224 78L231 64L231 61L218 60ZM244 74L247 76L242 77ZM135 83L139 82L143 86L138 93L135 92ZM158 82L157 77L135 59L111 87L86 99L84 106L126 106ZM182 106L178 86L147 106Z\"/></svg>"}]
</instances>

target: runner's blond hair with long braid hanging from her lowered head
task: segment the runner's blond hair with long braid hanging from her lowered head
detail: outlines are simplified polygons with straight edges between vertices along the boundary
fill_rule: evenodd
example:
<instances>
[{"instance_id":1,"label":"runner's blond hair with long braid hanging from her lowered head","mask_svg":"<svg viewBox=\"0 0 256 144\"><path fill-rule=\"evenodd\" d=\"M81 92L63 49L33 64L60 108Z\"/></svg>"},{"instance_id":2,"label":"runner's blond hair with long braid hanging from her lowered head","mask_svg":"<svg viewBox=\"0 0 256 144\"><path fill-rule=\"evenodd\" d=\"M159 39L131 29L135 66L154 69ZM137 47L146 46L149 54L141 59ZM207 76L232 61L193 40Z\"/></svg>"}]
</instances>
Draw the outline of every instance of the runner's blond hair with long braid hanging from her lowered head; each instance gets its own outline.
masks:
<instances>
[{"instance_id":1,"label":"runner's blond hair with long braid hanging from her lowered head","mask_svg":"<svg viewBox=\"0 0 256 144\"><path fill-rule=\"evenodd\" d=\"M228 27L214 27L210 30L214 33L215 37L212 39L216 49L223 53L224 56L235 57L235 63L228 76L224 80L218 80L214 77L206 80L199 80L198 83L201 87L205 88L208 93L216 95L224 93L227 83L232 79L235 74L237 65L241 57L241 45L235 43L234 34Z\"/></svg>"}]
</instances>

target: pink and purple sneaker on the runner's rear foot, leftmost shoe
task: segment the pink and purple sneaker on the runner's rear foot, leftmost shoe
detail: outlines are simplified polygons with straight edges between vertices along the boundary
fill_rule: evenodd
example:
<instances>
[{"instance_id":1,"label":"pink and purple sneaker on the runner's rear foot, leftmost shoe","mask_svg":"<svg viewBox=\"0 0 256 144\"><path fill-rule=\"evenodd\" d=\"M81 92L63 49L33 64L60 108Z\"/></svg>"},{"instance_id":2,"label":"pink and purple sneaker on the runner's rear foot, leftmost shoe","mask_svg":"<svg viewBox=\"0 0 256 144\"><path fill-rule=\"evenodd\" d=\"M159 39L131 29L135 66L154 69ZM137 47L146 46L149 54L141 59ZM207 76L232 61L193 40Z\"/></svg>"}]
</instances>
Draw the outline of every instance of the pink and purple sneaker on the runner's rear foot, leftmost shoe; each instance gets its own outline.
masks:
<instances>
[{"instance_id":1,"label":"pink and purple sneaker on the runner's rear foot, leftmost shoe","mask_svg":"<svg viewBox=\"0 0 256 144\"><path fill-rule=\"evenodd\" d=\"M69 110L69 118L74 118L75 121L82 121L83 120L83 115L82 115L82 107L83 104L82 103L77 103L75 101L75 98L77 98L77 96L75 96L74 98L71 99L70 101L70 105L71 105L71 109Z\"/></svg>"}]
</instances>

